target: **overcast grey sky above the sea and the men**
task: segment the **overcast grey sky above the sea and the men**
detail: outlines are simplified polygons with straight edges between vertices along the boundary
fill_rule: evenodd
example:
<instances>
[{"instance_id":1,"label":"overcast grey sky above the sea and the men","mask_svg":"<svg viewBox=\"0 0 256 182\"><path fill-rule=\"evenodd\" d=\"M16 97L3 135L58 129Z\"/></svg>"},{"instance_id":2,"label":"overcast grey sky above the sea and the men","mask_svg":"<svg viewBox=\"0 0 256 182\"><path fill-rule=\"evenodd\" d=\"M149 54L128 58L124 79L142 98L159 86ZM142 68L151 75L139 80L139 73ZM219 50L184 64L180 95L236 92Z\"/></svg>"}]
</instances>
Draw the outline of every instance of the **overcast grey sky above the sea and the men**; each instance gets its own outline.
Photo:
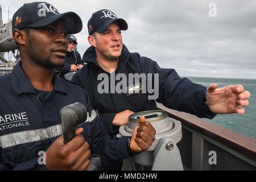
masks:
<instances>
[{"instance_id":1,"label":"overcast grey sky above the sea and the men","mask_svg":"<svg viewBox=\"0 0 256 182\"><path fill-rule=\"evenodd\" d=\"M1 0L3 22L23 3ZM123 43L130 52L150 57L180 76L256 79L256 1L94 0L47 1L64 13L79 14L83 28L75 36L81 56L89 47L87 22L92 13L112 10L128 23ZM210 3L217 16L210 17Z\"/></svg>"}]
</instances>

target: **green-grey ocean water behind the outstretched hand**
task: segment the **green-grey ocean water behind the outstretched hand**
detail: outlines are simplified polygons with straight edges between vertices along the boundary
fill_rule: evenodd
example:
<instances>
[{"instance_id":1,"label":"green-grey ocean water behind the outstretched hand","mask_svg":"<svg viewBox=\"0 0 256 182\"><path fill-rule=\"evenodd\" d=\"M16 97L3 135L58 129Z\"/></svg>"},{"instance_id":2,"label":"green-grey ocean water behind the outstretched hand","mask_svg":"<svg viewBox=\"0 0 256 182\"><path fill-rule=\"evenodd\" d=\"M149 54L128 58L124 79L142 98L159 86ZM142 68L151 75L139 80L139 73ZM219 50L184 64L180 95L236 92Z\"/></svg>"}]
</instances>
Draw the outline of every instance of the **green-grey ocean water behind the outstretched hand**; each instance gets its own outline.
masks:
<instances>
[{"instance_id":1,"label":"green-grey ocean water behind the outstretched hand","mask_svg":"<svg viewBox=\"0 0 256 182\"><path fill-rule=\"evenodd\" d=\"M219 87L226 85L241 84L245 90L251 93L249 106L245 108L245 114L218 114L213 119L205 119L208 122L216 123L237 133L256 139L256 80L246 80L237 78L206 78L187 77L198 84L209 86L217 83Z\"/></svg>"}]
</instances>

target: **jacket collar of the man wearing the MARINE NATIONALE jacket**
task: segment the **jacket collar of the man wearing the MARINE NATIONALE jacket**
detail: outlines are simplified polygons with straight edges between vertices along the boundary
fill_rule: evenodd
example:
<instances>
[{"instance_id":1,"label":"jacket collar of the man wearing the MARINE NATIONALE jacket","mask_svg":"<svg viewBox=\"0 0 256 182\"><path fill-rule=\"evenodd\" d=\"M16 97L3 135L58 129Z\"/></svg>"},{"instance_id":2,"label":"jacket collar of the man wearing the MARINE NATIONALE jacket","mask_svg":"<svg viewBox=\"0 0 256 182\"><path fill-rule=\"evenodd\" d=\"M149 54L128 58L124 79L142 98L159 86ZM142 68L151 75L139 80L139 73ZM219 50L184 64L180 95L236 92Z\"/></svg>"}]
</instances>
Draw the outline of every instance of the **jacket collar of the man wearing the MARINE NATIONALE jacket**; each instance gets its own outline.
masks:
<instances>
[{"instance_id":1,"label":"jacket collar of the man wearing the MARINE NATIONALE jacket","mask_svg":"<svg viewBox=\"0 0 256 182\"><path fill-rule=\"evenodd\" d=\"M13 68L11 72L11 88L14 93L18 96L21 93L35 93L36 91L28 80L27 76L24 74L22 67L22 61L19 61ZM54 91L67 94L64 85L62 83L62 78L54 76Z\"/></svg>"}]
</instances>

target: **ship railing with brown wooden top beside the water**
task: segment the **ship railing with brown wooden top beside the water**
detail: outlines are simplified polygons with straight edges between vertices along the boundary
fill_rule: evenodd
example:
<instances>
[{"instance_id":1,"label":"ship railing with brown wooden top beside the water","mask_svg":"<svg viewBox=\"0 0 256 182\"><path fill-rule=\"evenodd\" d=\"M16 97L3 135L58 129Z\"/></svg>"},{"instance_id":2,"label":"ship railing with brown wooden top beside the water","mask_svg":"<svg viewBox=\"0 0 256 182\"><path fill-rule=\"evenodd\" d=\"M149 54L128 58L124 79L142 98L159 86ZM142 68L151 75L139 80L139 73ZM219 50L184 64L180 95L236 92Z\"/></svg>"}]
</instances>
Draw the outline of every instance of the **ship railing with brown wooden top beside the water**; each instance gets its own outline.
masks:
<instances>
[{"instance_id":1,"label":"ship railing with brown wooden top beside the water","mask_svg":"<svg viewBox=\"0 0 256 182\"><path fill-rule=\"evenodd\" d=\"M181 122L179 147L185 169L256 170L256 140L205 121L195 115L158 108Z\"/></svg>"}]
</instances>

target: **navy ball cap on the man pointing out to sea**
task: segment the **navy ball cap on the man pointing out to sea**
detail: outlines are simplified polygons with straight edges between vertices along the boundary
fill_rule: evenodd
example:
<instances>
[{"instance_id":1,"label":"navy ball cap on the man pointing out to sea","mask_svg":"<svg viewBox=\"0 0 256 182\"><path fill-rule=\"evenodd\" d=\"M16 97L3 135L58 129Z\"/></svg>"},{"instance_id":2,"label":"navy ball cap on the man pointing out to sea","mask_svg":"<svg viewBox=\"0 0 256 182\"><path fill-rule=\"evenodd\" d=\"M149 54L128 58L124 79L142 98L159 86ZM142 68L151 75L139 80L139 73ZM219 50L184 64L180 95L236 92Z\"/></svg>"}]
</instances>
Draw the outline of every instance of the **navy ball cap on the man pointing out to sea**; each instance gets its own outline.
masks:
<instances>
[{"instance_id":1,"label":"navy ball cap on the man pointing out to sea","mask_svg":"<svg viewBox=\"0 0 256 182\"><path fill-rule=\"evenodd\" d=\"M110 24L117 22L121 30L127 30L128 25L122 18L117 18L110 10L99 10L92 14L88 21L88 33L92 35L94 32L104 32L110 26Z\"/></svg>"}]
</instances>

